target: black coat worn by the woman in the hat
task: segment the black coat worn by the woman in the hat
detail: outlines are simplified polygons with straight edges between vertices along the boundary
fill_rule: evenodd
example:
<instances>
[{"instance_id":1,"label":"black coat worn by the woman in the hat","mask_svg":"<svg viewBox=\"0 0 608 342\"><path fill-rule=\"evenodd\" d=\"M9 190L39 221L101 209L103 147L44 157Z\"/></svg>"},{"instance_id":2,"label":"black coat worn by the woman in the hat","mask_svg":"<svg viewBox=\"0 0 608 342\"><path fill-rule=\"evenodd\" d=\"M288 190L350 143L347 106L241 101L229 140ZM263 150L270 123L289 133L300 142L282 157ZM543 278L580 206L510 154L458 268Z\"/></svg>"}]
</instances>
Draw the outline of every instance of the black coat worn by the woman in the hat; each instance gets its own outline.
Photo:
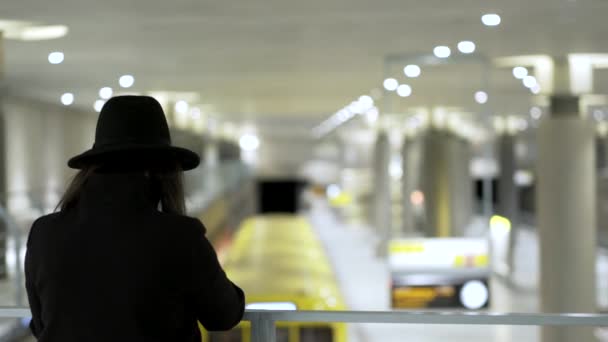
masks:
<instances>
[{"instance_id":1,"label":"black coat worn by the woman in the hat","mask_svg":"<svg viewBox=\"0 0 608 342\"><path fill-rule=\"evenodd\" d=\"M200 341L226 330L243 291L200 221L161 213L143 175L94 174L78 204L36 220L25 258L41 342Z\"/></svg>"}]
</instances>

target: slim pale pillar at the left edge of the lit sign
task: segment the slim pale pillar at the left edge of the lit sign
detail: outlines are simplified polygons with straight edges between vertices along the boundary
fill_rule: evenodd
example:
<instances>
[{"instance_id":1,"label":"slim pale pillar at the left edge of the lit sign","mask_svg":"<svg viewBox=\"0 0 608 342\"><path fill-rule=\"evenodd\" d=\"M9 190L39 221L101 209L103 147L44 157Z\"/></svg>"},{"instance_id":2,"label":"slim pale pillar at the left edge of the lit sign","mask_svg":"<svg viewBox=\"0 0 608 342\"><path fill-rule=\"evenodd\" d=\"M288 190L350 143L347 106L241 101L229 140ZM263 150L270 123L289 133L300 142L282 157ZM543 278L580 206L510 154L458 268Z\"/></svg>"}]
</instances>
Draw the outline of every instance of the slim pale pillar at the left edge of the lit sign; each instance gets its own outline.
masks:
<instances>
[{"instance_id":1,"label":"slim pale pillar at the left edge of the lit sign","mask_svg":"<svg viewBox=\"0 0 608 342\"><path fill-rule=\"evenodd\" d=\"M378 255L386 255L388 240L391 238L391 192L389 163L391 146L388 135L378 133L374 148L374 210L373 223L380 237Z\"/></svg>"}]
</instances>

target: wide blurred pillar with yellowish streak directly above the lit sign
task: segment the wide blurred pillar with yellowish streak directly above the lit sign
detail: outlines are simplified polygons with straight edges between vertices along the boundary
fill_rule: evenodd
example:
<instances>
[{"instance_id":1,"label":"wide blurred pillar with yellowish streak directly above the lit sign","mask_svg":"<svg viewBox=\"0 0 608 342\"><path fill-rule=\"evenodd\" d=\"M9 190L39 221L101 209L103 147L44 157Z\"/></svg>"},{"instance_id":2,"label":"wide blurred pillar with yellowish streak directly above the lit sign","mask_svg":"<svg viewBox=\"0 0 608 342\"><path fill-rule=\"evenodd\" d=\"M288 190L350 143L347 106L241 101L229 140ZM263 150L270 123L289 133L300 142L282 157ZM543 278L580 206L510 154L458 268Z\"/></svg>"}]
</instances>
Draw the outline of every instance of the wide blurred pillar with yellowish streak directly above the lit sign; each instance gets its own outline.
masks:
<instances>
[{"instance_id":1,"label":"wide blurred pillar with yellowish streak directly above the lit sign","mask_svg":"<svg viewBox=\"0 0 608 342\"><path fill-rule=\"evenodd\" d=\"M423 139L420 176L425 233L433 237L462 236L473 210L469 145L447 131L430 130Z\"/></svg>"}]
</instances>

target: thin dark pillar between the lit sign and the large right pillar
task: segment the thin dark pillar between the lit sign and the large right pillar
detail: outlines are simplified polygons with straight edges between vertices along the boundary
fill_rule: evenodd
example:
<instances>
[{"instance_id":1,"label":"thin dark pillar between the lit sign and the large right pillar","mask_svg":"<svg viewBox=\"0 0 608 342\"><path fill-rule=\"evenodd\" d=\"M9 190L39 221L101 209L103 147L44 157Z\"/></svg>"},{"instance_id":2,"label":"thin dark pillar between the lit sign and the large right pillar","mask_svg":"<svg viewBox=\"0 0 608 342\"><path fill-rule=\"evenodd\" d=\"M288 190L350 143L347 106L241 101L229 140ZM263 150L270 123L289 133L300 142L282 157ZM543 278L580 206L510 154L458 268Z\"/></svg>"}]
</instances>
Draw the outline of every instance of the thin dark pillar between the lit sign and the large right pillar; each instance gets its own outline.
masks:
<instances>
[{"instance_id":1,"label":"thin dark pillar between the lit sign and the large right pillar","mask_svg":"<svg viewBox=\"0 0 608 342\"><path fill-rule=\"evenodd\" d=\"M504 133L498 137L497 141L497 156L500 166L500 175L498 177L498 208L497 213L508 218L511 221L511 231L509 233L509 246L507 248L507 266L508 272L513 272L514 265L514 249L515 240L517 237L517 188L515 186L515 137L511 134Z\"/></svg>"}]
</instances>

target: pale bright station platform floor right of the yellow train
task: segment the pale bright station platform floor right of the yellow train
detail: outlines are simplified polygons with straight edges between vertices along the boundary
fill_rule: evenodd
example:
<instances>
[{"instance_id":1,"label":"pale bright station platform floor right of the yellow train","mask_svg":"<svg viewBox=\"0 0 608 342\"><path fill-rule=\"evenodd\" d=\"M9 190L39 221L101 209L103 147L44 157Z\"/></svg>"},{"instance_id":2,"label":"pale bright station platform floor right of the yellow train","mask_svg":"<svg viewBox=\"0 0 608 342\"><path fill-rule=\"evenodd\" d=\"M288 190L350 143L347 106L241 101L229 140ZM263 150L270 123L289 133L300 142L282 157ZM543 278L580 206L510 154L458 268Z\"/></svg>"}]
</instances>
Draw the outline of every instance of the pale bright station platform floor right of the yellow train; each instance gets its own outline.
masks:
<instances>
[{"instance_id":1,"label":"pale bright station platform floor right of the yellow train","mask_svg":"<svg viewBox=\"0 0 608 342\"><path fill-rule=\"evenodd\" d=\"M316 205L308 217L326 247L350 310L390 310L389 270L377 258L376 236L366 226L343 223L328 207ZM538 243L533 229L518 229L515 272L511 279L492 276L493 312L539 312ZM598 251L598 308L608 306L608 254ZM598 338L604 336L597 331ZM398 324L351 324L353 342L471 342L539 341L539 327L525 326L430 326ZM599 341L604 341L600 338ZM608 339L605 339L608 341Z\"/></svg>"}]
</instances>

